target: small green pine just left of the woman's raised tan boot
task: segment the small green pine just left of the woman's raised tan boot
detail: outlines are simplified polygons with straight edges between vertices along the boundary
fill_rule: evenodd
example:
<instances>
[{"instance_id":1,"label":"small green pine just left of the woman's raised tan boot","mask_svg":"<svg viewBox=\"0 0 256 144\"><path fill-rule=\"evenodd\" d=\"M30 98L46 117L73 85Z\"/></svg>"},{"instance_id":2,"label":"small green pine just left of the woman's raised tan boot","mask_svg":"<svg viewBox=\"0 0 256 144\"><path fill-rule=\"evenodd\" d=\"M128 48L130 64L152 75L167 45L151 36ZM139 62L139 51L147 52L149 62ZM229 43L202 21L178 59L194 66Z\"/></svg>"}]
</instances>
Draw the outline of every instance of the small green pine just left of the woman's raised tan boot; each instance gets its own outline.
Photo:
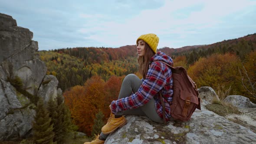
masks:
<instances>
[{"instance_id":1,"label":"small green pine just left of the woman's raised tan boot","mask_svg":"<svg viewBox=\"0 0 256 144\"><path fill-rule=\"evenodd\" d=\"M98 111L98 113L95 115L95 119L94 119L94 124L92 126L92 135L94 134L100 134L101 131L102 131L102 127L104 126L104 123L103 123L103 118L104 118L104 115L102 113L102 111Z\"/></svg>"}]
</instances>

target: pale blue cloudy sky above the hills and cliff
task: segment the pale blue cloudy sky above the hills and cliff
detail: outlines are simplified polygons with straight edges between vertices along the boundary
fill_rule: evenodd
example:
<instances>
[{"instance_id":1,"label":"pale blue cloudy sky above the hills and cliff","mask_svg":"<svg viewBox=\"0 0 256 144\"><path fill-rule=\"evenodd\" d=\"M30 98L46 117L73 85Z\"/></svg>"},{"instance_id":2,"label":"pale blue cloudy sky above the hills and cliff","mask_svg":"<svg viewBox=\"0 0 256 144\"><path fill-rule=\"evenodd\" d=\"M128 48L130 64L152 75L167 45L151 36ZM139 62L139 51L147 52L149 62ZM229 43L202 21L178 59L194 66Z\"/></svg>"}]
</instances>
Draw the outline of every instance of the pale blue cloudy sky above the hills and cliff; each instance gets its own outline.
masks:
<instances>
[{"instance_id":1,"label":"pale blue cloudy sky above the hills and cliff","mask_svg":"<svg viewBox=\"0 0 256 144\"><path fill-rule=\"evenodd\" d=\"M30 29L39 50L118 48L147 33L158 49L180 48L256 33L256 0L0 0L0 13Z\"/></svg>"}]
</instances>

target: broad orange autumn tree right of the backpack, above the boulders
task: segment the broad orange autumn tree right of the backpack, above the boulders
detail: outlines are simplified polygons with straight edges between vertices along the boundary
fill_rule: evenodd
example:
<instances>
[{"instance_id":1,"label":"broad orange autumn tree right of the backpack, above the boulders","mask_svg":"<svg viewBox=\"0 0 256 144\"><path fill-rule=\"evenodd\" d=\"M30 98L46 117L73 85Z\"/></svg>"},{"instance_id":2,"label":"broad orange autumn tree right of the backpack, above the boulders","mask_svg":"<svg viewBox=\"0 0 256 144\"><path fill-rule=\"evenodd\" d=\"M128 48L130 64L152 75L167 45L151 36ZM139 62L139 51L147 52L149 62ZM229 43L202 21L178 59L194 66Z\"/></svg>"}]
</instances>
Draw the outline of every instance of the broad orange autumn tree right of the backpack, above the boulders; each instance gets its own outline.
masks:
<instances>
[{"instance_id":1,"label":"broad orange autumn tree right of the backpack, above the boulders","mask_svg":"<svg viewBox=\"0 0 256 144\"><path fill-rule=\"evenodd\" d=\"M240 59L230 53L213 54L208 58L201 58L188 69L188 75L201 86L217 88L219 85L230 87L236 92L242 92L238 68ZM239 94L239 93L238 93Z\"/></svg>"}]
</instances>

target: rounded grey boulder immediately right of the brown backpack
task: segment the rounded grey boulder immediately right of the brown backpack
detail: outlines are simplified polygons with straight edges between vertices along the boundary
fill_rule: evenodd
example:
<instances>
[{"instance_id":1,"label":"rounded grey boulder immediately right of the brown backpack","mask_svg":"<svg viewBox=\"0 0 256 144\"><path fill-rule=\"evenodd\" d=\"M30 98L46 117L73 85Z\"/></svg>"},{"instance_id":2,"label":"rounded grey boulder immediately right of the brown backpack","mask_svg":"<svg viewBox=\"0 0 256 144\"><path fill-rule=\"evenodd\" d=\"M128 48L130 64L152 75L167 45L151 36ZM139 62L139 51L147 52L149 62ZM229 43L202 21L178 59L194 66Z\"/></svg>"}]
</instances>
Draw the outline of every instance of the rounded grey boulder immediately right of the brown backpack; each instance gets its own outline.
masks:
<instances>
[{"instance_id":1,"label":"rounded grey boulder immediately right of the brown backpack","mask_svg":"<svg viewBox=\"0 0 256 144\"><path fill-rule=\"evenodd\" d=\"M198 92L200 94L200 97L210 103L213 102L213 98L217 98L217 100L220 100L216 92L213 90L213 88L208 86L203 86L201 88L198 88Z\"/></svg>"}]
</instances>

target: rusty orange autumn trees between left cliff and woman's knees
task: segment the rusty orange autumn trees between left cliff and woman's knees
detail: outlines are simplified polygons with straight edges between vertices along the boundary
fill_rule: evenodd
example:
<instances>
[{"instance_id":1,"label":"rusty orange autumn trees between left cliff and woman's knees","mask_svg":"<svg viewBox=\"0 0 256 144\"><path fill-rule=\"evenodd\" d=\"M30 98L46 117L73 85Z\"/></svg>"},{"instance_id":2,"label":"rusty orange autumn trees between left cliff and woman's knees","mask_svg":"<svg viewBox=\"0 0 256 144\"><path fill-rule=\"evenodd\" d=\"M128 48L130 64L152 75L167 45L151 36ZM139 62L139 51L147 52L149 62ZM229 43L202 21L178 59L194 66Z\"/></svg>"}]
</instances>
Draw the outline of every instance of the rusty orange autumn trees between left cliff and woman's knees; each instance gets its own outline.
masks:
<instances>
[{"instance_id":1,"label":"rusty orange autumn trees between left cliff and woman's knees","mask_svg":"<svg viewBox=\"0 0 256 144\"><path fill-rule=\"evenodd\" d=\"M100 110L105 120L110 114L109 105L118 98L122 77L112 76L107 82L93 76L83 86L72 87L63 93L65 104L69 106L71 116L79 131L91 134L95 114ZM106 122L106 121L105 121Z\"/></svg>"}]
</instances>

